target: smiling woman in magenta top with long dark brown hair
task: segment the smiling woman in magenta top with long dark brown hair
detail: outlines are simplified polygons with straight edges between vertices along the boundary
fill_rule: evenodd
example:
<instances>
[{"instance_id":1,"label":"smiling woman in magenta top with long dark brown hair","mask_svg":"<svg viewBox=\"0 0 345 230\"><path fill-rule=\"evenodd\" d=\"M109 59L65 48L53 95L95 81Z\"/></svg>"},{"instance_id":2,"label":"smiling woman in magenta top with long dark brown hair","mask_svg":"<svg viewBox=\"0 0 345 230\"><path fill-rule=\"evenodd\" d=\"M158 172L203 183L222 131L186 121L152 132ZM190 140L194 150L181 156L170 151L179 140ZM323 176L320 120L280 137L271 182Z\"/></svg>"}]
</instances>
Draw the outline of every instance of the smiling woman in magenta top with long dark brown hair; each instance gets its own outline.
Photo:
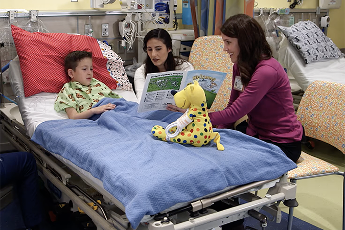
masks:
<instances>
[{"instance_id":1,"label":"smiling woman in magenta top with long dark brown hair","mask_svg":"<svg viewBox=\"0 0 345 230\"><path fill-rule=\"evenodd\" d=\"M233 90L226 108L211 112L218 128L233 128L277 145L296 162L301 155L302 124L297 121L289 78L272 57L265 34L258 22L245 14L228 18L221 35L226 51L234 62Z\"/></svg>"}]
</instances>

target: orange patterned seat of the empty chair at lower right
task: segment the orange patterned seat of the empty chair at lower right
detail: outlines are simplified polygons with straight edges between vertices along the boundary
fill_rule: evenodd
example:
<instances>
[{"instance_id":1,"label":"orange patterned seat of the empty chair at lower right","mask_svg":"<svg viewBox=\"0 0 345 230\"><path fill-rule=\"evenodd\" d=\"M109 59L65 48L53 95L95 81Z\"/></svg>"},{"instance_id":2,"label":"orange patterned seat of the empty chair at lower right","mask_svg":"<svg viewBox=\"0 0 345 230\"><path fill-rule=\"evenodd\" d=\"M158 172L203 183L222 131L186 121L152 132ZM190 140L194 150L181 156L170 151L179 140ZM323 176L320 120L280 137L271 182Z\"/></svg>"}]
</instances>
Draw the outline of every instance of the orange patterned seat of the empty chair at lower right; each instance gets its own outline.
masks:
<instances>
[{"instance_id":1,"label":"orange patterned seat of the empty chair at lower right","mask_svg":"<svg viewBox=\"0 0 345 230\"><path fill-rule=\"evenodd\" d=\"M305 152L302 152L296 164L297 168L288 172L289 179L339 171L338 167Z\"/></svg>"}]
</instances>

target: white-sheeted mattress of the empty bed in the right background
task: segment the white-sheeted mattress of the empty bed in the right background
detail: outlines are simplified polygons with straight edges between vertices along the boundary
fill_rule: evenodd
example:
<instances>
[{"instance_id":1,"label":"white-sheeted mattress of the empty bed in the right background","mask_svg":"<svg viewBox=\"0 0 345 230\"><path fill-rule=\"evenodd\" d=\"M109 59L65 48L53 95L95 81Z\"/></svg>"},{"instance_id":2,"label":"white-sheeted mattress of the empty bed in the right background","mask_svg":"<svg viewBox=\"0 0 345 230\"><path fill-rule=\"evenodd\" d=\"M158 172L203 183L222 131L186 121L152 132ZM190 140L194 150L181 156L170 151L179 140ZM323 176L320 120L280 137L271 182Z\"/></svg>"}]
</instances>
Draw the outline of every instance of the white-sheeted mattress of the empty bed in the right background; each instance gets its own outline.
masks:
<instances>
[{"instance_id":1,"label":"white-sheeted mattress of the empty bed in the right background","mask_svg":"<svg viewBox=\"0 0 345 230\"><path fill-rule=\"evenodd\" d=\"M323 59L305 64L285 36L281 42L278 61L287 68L303 91L316 80L345 84L345 58Z\"/></svg>"}]
</instances>

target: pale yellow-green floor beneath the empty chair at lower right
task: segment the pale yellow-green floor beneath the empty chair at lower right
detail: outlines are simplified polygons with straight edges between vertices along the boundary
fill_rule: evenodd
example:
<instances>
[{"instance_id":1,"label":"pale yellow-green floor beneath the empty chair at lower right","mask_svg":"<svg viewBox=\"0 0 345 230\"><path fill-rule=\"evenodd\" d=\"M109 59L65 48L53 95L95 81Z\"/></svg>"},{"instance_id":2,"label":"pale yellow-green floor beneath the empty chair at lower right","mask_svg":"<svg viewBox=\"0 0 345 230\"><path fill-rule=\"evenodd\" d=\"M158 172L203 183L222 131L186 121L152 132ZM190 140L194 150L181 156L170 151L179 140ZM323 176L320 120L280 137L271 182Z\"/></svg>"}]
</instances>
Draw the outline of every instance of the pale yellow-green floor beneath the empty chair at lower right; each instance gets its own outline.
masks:
<instances>
[{"instance_id":1,"label":"pale yellow-green floor beneath the empty chair at lower right","mask_svg":"<svg viewBox=\"0 0 345 230\"><path fill-rule=\"evenodd\" d=\"M338 149L315 140L315 148L303 151L326 160L343 172L345 155ZM324 230L342 229L343 177L339 175L323 176L297 181L297 201L294 216ZM262 193L262 194L261 194ZM259 193L263 195L264 191ZM289 209L281 204L282 211Z\"/></svg>"}]
</instances>

